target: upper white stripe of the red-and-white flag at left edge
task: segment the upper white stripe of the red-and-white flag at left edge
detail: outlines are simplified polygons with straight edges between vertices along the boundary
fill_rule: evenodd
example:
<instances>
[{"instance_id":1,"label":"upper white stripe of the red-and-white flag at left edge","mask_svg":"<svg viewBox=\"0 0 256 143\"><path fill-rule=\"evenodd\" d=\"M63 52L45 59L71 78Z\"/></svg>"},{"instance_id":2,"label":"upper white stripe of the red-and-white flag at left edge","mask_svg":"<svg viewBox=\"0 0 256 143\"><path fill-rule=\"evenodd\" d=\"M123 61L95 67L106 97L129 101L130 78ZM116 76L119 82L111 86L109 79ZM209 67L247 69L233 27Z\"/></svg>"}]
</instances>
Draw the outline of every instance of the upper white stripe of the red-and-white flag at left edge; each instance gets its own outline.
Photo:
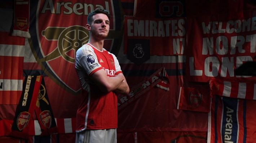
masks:
<instances>
[{"instance_id":1,"label":"upper white stripe of the red-and-white flag at left edge","mask_svg":"<svg viewBox=\"0 0 256 143\"><path fill-rule=\"evenodd\" d=\"M0 56L24 56L25 46L0 44Z\"/></svg>"}]
</instances>

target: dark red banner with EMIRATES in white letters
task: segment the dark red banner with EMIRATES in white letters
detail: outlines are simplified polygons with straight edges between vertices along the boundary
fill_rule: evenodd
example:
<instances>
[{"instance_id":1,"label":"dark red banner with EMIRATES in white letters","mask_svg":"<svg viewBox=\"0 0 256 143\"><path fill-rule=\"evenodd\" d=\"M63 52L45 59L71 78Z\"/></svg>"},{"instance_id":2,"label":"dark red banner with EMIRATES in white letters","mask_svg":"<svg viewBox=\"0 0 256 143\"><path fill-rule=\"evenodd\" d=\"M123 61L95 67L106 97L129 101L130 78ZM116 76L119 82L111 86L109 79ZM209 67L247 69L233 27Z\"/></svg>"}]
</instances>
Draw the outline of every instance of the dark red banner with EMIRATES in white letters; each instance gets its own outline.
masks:
<instances>
[{"instance_id":1,"label":"dark red banner with EMIRATES in white letters","mask_svg":"<svg viewBox=\"0 0 256 143\"><path fill-rule=\"evenodd\" d=\"M125 17L124 53L138 57L136 46L150 55L182 55L186 46L185 18ZM137 54L137 56L136 56Z\"/></svg>"}]
</instances>

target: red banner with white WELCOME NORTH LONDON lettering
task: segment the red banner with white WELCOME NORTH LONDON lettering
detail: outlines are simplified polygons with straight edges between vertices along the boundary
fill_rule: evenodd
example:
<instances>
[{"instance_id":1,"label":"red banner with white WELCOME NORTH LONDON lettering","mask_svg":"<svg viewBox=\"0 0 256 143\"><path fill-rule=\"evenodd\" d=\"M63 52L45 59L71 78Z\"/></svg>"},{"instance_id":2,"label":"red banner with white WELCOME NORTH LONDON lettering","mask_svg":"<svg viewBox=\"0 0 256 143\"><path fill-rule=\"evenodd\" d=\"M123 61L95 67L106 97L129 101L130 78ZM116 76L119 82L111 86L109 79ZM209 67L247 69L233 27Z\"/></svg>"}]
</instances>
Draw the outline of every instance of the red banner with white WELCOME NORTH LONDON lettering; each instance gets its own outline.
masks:
<instances>
[{"instance_id":1,"label":"red banner with white WELCOME NORTH LONDON lettering","mask_svg":"<svg viewBox=\"0 0 256 143\"><path fill-rule=\"evenodd\" d=\"M189 81L255 81L252 76L235 74L246 61L255 61L256 17L225 19L225 16L188 18L186 75Z\"/></svg>"}]
</instances>

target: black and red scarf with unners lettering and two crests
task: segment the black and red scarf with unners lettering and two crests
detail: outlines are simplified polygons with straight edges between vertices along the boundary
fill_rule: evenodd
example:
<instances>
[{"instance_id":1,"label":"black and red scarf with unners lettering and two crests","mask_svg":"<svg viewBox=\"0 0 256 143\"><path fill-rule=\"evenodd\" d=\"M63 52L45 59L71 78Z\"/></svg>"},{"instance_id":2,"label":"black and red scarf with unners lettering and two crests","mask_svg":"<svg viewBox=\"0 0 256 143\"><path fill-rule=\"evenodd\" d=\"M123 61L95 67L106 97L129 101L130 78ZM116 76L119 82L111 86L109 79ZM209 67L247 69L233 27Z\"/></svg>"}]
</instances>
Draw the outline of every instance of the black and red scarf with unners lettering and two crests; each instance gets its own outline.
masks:
<instances>
[{"instance_id":1,"label":"black and red scarf with unners lettering and two crests","mask_svg":"<svg viewBox=\"0 0 256 143\"><path fill-rule=\"evenodd\" d=\"M57 125L48 99L43 76L27 76L14 117L13 137L28 139L29 126L33 125L32 117L36 113L41 128L41 135L57 133Z\"/></svg>"}]
</instances>

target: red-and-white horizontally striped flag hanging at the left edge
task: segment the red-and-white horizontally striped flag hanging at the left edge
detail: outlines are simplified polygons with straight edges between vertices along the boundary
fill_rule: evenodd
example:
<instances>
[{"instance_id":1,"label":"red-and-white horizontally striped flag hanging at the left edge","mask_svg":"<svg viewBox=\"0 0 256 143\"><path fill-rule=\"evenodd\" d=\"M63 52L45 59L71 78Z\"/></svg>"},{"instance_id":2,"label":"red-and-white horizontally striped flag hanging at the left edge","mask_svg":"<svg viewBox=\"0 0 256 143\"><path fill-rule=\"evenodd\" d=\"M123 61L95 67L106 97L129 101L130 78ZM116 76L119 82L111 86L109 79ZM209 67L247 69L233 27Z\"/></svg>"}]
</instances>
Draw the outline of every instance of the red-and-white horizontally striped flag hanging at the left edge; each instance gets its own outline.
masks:
<instances>
[{"instance_id":1,"label":"red-and-white horizontally striped flag hanging at the left edge","mask_svg":"<svg viewBox=\"0 0 256 143\"><path fill-rule=\"evenodd\" d=\"M9 32L0 32L0 37L0 104L18 104L23 83L25 38L11 36Z\"/></svg>"}]
</instances>

